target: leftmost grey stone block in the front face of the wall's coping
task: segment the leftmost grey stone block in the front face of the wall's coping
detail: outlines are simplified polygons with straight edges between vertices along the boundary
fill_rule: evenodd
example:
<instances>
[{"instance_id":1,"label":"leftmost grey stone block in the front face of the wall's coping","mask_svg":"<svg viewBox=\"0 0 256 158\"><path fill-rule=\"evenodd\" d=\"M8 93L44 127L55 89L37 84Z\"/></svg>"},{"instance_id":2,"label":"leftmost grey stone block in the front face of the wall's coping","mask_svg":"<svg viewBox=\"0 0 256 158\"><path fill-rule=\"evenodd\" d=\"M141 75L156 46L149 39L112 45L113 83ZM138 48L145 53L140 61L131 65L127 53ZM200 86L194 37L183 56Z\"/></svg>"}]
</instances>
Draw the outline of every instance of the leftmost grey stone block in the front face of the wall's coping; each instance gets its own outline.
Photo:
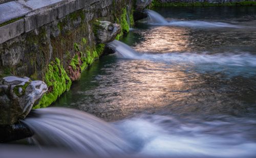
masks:
<instances>
[{"instance_id":1,"label":"leftmost grey stone block in the front face of the wall's coping","mask_svg":"<svg viewBox=\"0 0 256 158\"><path fill-rule=\"evenodd\" d=\"M17 20L0 28L0 43L4 43L24 33L24 19Z\"/></svg>"}]
</instances>

